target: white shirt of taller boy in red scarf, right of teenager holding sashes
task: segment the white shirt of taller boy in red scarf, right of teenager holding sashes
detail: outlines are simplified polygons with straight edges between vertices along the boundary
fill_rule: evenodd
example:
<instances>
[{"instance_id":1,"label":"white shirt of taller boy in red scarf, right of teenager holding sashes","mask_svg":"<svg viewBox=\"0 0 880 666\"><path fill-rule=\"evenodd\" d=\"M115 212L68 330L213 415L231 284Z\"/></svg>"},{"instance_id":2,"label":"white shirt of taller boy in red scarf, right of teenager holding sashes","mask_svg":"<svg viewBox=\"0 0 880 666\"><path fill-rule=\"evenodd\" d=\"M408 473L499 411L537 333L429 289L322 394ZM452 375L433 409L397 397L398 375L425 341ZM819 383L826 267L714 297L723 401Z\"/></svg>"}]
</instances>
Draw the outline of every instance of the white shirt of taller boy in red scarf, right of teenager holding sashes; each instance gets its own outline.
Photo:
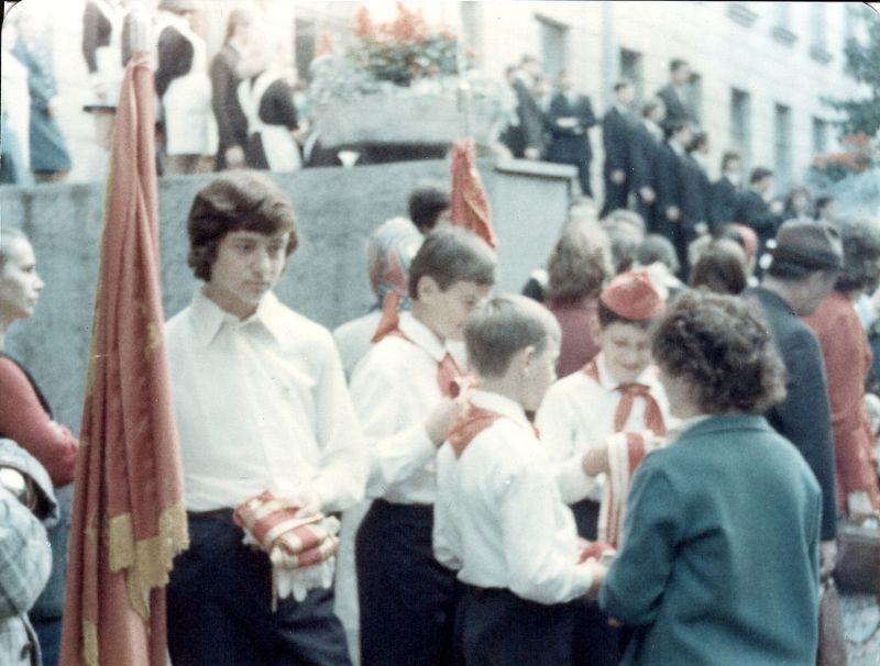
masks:
<instances>
[{"instance_id":1,"label":"white shirt of taller boy in red scarf, right of teenager holding sashes","mask_svg":"<svg viewBox=\"0 0 880 666\"><path fill-rule=\"evenodd\" d=\"M366 495L404 504L432 504L437 447L425 421L442 401L437 364L447 346L409 312L398 335L382 338L358 364L351 397L370 448Z\"/></svg>"}]
</instances>

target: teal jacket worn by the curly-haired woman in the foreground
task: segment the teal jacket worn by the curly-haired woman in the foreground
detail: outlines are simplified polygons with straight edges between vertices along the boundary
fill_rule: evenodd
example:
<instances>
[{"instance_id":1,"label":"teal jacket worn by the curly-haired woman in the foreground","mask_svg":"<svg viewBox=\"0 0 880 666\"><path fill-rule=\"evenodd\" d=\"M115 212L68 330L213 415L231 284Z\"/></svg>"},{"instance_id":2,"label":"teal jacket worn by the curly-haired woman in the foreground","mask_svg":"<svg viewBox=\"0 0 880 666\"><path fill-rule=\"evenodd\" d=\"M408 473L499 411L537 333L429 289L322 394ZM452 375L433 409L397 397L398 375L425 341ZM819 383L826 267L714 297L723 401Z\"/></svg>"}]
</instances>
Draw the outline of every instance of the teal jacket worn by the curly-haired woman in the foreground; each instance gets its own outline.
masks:
<instances>
[{"instance_id":1,"label":"teal jacket worn by the curly-haired woman in the foreground","mask_svg":"<svg viewBox=\"0 0 880 666\"><path fill-rule=\"evenodd\" d=\"M600 593L623 664L815 664L822 495L762 417L702 421L636 470Z\"/></svg>"}]
</instances>

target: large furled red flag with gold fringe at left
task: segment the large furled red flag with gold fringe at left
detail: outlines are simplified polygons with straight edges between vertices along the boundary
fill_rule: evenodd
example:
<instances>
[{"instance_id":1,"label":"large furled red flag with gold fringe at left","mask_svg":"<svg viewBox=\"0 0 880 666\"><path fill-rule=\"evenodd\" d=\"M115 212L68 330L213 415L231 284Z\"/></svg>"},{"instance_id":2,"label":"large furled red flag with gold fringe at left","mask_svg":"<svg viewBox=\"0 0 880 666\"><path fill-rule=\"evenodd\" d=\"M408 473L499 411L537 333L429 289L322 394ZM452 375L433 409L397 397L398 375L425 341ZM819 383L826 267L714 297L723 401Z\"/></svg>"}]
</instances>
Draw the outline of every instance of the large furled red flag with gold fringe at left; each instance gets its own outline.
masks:
<instances>
[{"instance_id":1,"label":"large furled red flag with gold fringe at left","mask_svg":"<svg viewBox=\"0 0 880 666\"><path fill-rule=\"evenodd\" d=\"M165 664L165 590L188 545L163 345L153 74L117 110L70 531L62 664Z\"/></svg>"}]
</instances>

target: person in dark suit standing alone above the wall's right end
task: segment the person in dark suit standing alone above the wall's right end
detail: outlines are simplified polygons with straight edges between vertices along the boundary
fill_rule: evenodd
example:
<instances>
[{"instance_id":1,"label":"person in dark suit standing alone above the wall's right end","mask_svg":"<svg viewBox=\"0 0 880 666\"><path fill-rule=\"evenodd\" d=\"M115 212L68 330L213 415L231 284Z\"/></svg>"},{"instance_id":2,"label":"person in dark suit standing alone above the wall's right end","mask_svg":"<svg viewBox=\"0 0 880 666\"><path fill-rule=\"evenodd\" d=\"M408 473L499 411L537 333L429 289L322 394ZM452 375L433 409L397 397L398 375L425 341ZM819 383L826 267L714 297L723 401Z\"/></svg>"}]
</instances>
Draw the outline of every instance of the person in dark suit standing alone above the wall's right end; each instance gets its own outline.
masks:
<instances>
[{"instance_id":1,"label":"person in dark suit standing alone above the wall's right end","mask_svg":"<svg viewBox=\"0 0 880 666\"><path fill-rule=\"evenodd\" d=\"M581 192L586 197L593 196L590 186L593 146L590 144L588 130L595 124L596 115L590 98L572 91L571 75L563 70L559 75L559 92L550 102L547 118L551 136L547 160L576 166Z\"/></svg>"}]
</instances>

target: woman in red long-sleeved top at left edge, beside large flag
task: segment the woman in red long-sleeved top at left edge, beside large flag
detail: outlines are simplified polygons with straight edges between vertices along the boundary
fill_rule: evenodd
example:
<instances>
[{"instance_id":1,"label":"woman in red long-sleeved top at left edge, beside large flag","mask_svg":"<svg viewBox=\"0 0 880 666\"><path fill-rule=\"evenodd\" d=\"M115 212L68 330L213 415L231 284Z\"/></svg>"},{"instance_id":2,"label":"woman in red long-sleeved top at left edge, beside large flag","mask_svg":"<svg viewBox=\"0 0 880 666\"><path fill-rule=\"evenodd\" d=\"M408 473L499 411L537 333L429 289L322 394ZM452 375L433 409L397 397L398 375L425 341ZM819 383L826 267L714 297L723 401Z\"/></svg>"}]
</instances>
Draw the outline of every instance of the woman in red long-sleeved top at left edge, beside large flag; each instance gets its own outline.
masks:
<instances>
[{"instance_id":1,"label":"woman in red long-sleeved top at left edge, beside large flag","mask_svg":"<svg viewBox=\"0 0 880 666\"><path fill-rule=\"evenodd\" d=\"M3 354L12 322L33 314L43 280L34 251L15 229L0 232L0 436L14 440L33 455L56 487L74 480L78 442L52 420L52 410L26 370Z\"/></svg>"}]
</instances>

